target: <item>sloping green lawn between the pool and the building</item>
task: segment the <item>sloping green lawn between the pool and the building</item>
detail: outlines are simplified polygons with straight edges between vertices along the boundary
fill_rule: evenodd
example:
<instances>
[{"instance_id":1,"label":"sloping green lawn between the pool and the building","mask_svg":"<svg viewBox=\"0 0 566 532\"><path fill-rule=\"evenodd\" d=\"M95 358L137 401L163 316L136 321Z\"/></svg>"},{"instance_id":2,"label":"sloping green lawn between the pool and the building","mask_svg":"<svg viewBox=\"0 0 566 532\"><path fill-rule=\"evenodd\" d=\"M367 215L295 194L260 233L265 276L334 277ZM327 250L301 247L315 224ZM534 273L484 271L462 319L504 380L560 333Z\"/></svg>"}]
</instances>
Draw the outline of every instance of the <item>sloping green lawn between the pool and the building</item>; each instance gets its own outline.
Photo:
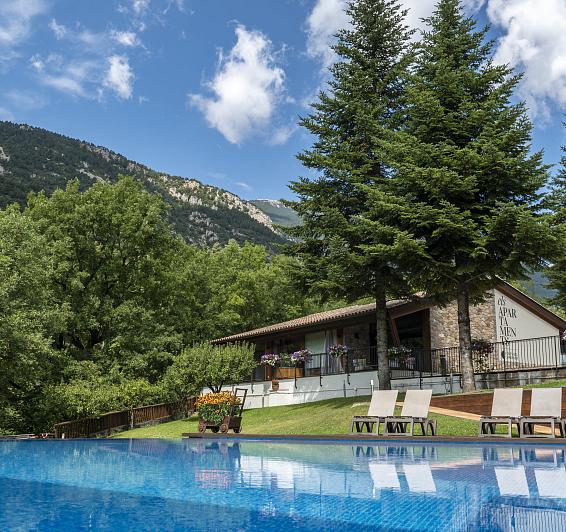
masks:
<instances>
[{"instance_id":1,"label":"sloping green lawn between the pool and the building","mask_svg":"<svg viewBox=\"0 0 566 532\"><path fill-rule=\"evenodd\" d=\"M366 415L370 397L329 399L315 403L244 412L242 434L346 434L352 416ZM431 414L438 420L438 433L451 436L476 436L475 421ZM197 418L182 419L120 432L116 438L180 438L184 432L197 432ZM419 430L419 429L417 429Z\"/></svg>"}]
</instances>

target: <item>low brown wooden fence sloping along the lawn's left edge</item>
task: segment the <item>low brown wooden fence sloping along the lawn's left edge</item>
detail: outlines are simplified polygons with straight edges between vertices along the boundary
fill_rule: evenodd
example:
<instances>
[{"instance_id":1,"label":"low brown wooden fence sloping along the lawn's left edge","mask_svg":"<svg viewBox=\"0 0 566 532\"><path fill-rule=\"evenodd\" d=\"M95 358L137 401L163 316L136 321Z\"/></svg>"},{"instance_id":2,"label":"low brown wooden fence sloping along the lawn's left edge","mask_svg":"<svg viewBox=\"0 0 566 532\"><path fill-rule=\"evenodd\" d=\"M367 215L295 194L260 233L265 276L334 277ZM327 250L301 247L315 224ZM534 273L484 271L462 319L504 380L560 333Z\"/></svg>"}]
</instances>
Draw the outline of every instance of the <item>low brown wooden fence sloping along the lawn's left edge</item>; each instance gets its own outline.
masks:
<instances>
[{"instance_id":1,"label":"low brown wooden fence sloping along the lawn's left edge","mask_svg":"<svg viewBox=\"0 0 566 532\"><path fill-rule=\"evenodd\" d=\"M108 412L98 417L57 423L56 438L93 438L107 436L113 431L168 421L187 416L194 411L195 398L188 397L174 403L141 406L120 412Z\"/></svg>"}]
</instances>

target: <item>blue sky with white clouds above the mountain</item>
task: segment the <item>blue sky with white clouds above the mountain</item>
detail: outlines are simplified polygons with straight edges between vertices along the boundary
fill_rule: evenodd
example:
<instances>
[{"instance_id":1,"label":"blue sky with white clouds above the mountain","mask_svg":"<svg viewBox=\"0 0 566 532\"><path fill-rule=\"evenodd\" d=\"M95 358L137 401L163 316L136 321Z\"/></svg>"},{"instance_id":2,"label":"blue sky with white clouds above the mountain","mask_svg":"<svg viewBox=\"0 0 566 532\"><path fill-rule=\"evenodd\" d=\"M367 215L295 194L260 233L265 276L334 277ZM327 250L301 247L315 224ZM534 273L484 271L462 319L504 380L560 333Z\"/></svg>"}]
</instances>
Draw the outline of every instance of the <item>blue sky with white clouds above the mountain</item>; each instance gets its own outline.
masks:
<instances>
[{"instance_id":1,"label":"blue sky with white clouds above the mountain","mask_svg":"<svg viewBox=\"0 0 566 532\"><path fill-rule=\"evenodd\" d=\"M402 0L422 28L434 0ZM0 0L0 119L247 198L291 197L345 0ZM566 0L466 0L524 76L533 148L560 160Z\"/></svg>"}]
</instances>

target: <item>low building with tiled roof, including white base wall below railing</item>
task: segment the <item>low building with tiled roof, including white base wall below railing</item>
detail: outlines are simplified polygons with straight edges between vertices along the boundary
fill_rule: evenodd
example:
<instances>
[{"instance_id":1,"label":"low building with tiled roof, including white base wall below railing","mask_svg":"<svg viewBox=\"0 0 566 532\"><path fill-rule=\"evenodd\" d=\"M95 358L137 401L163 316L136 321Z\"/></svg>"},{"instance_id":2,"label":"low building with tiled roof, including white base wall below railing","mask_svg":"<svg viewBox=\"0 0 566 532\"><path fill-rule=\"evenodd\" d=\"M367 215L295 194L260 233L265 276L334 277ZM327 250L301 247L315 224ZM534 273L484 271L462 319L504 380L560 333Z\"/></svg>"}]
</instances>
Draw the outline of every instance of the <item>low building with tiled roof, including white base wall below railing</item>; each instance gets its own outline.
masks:
<instances>
[{"instance_id":1,"label":"low building with tiled roof, including white base wall below railing","mask_svg":"<svg viewBox=\"0 0 566 532\"><path fill-rule=\"evenodd\" d=\"M388 302L389 364L393 386L422 387L433 379L435 391L457 391L460 374L456 303L438 306L424 298ZM511 285L501 284L471 308L476 373L566 368L561 336L566 321ZM250 377L251 395L261 391L261 405L289 404L325 397L369 393L377 382L375 304L355 305L303 316L283 323L214 340L216 344L255 344L264 353L290 354L308 349L305 363L258 364ZM334 345L347 356L332 356ZM277 392L269 381L277 379ZM431 381L432 382L432 381ZM432 384L431 384L432 385ZM276 393L276 396L272 396ZM291 394L293 397L283 397ZM257 401L256 401L257 403Z\"/></svg>"}]
</instances>

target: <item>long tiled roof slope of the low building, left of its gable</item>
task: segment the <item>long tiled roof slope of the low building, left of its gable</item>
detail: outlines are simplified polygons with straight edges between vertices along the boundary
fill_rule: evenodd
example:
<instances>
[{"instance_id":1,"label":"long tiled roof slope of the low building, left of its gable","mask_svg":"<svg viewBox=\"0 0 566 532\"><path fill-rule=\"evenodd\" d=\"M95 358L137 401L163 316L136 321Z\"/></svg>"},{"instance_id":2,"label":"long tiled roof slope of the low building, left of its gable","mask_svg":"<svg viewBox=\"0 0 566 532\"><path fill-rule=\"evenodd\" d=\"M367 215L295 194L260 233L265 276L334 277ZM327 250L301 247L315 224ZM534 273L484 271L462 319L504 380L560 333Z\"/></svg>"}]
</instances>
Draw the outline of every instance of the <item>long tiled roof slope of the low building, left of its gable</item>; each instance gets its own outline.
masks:
<instances>
[{"instance_id":1,"label":"long tiled roof slope of the low building, left of its gable","mask_svg":"<svg viewBox=\"0 0 566 532\"><path fill-rule=\"evenodd\" d=\"M387 308L398 307L406 303L408 303L408 301L399 299L388 301ZM275 323L274 325L260 327L259 329L254 329L252 331L233 334L232 336L225 336L224 338L218 338L216 340L213 340L212 342L215 344L224 342L236 342L238 340L247 340L249 338L256 338L258 336L265 336L268 334L274 334L291 329L301 329L303 327L311 327L313 325L342 321L349 318L357 318L360 316L371 316L372 314L375 314L375 303L368 303L367 305L353 305L351 307L317 312L316 314L309 314L308 316L302 316L300 318L295 318L294 320Z\"/></svg>"}]
</instances>

